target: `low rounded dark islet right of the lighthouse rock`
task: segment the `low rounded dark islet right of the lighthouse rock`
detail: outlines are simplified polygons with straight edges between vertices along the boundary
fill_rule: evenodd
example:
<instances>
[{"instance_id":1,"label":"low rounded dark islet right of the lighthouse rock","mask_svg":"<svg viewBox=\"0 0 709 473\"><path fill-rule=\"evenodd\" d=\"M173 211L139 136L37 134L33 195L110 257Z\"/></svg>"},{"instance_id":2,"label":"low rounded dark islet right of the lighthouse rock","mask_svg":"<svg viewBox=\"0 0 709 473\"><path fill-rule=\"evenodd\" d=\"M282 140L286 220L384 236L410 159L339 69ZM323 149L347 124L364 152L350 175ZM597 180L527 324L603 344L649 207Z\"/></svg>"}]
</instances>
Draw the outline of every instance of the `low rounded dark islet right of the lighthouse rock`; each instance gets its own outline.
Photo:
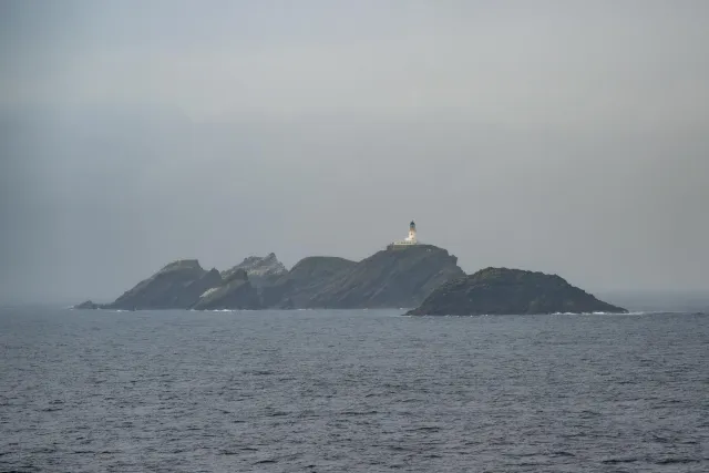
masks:
<instances>
[{"instance_id":1,"label":"low rounded dark islet right of the lighthouse rock","mask_svg":"<svg viewBox=\"0 0 709 473\"><path fill-rule=\"evenodd\" d=\"M435 289L407 315L474 316L627 310L596 299L556 275L507 268L486 268Z\"/></svg>"}]
</instances>

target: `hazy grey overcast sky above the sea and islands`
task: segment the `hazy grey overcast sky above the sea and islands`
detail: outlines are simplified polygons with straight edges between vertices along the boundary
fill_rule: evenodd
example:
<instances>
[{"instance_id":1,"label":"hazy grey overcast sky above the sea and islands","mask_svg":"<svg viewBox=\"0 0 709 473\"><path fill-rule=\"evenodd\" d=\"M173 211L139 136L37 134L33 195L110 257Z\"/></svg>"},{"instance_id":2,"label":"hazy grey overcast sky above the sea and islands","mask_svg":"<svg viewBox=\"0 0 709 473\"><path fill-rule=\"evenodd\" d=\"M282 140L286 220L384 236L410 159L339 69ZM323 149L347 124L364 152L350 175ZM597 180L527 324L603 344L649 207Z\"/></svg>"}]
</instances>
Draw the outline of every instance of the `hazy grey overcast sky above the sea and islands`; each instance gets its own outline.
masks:
<instances>
[{"instance_id":1,"label":"hazy grey overcast sky above the sea and islands","mask_svg":"<svg viewBox=\"0 0 709 473\"><path fill-rule=\"evenodd\" d=\"M177 258L709 290L709 2L0 3L0 301Z\"/></svg>"}]
</instances>

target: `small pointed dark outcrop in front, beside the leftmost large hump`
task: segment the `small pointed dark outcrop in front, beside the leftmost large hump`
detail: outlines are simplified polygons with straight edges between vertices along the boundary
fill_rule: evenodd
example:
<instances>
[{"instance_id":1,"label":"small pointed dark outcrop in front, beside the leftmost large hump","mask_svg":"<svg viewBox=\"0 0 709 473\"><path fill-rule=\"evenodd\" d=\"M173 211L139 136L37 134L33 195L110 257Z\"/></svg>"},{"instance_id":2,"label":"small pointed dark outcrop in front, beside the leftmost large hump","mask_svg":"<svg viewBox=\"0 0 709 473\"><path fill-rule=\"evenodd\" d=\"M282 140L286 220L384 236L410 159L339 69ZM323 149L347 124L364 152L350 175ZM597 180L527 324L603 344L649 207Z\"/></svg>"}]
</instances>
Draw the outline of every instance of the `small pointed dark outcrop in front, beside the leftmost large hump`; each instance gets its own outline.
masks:
<instances>
[{"instance_id":1,"label":"small pointed dark outcrop in front, beside the leftmost large hump","mask_svg":"<svg viewBox=\"0 0 709 473\"><path fill-rule=\"evenodd\" d=\"M206 290L193 306L195 310L260 309L258 291L251 286L246 270L230 273L224 284Z\"/></svg>"}]
</instances>

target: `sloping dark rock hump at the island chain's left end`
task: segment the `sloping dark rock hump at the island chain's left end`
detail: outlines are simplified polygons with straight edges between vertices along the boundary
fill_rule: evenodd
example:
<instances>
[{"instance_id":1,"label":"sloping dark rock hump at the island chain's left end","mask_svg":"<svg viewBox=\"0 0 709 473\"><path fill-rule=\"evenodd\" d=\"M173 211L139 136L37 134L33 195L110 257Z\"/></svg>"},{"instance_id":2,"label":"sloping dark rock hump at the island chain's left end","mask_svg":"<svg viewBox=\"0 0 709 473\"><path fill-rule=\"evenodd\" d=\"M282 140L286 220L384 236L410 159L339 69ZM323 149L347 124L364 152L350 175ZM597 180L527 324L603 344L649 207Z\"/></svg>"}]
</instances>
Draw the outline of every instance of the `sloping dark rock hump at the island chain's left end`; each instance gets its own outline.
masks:
<instances>
[{"instance_id":1,"label":"sloping dark rock hump at the island chain's left end","mask_svg":"<svg viewBox=\"0 0 709 473\"><path fill-rule=\"evenodd\" d=\"M209 271L196 259L181 259L142 280L124 292L109 309L187 309L207 289L220 286L222 276L216 269Z\"/></svg>"}]
</instances>

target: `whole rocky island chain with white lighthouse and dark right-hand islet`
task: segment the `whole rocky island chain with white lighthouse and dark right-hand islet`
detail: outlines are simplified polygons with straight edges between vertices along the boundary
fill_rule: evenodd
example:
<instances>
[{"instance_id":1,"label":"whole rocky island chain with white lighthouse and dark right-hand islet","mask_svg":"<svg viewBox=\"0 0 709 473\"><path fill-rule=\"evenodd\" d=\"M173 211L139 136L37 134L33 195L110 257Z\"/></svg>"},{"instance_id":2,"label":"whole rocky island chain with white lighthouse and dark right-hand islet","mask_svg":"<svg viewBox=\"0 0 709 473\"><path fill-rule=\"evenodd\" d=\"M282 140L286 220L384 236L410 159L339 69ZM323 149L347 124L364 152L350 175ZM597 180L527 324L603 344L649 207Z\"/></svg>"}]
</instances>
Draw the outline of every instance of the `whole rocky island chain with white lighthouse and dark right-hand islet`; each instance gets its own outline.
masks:
<instances>
[{"instance_id":1,"label":"whole rocky island chain with white lighthouse and dark right-hand islet","mask_svg":"<svg viewBox=\"0 0 709 473\"><path fill-rule=\"evenodd\" d=\"M487 268L471 276L445 249L409 236L360 261L309 256L290 270L270 253L219 273L173 261L111 304L75 309L362 309L418 307L409 315L625 312L555 275Z\"/></svg>"}]
</instances>

